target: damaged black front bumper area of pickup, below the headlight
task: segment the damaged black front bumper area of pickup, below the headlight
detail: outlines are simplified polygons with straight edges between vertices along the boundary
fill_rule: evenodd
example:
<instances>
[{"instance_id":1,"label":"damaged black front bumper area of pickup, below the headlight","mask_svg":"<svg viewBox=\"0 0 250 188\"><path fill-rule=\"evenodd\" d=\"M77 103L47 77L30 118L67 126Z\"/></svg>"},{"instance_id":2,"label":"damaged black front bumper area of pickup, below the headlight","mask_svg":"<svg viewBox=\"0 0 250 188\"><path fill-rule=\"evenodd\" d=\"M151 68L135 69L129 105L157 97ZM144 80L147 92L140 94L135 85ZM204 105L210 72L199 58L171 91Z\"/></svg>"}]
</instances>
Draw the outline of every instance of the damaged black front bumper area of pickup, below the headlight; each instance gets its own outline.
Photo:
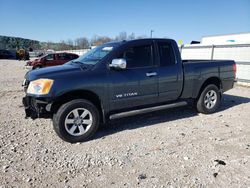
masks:
<instances>
[{"instance_id":1,"label":"damaged black front bumper area of pickup, below the headlight","mask_svg":"<svg viewBox=\"0 0 250 188\"><path fill-rule=\"evenodd\" d=\"M25 118L50 118L51 103L36 99L34 97L25 96L23 98L23 105L25 109Z\"/></svg>"}]
</instances>

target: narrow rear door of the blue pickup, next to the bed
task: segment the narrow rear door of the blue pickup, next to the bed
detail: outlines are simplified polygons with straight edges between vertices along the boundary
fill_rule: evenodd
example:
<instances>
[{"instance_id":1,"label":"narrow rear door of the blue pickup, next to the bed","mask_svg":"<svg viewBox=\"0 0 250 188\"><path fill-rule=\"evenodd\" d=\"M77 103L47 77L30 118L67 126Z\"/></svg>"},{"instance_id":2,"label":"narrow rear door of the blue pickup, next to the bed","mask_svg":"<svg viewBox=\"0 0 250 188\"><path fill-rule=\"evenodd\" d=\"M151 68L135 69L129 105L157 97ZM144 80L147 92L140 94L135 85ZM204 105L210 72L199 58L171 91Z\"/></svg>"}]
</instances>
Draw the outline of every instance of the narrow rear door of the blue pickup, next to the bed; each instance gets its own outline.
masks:
<instances>
[{"instance_id":1,"label":"narrow rear door of the blue pickup, next to the bed","mask_svg":"<svg viewBox=\"0 0 250 188\"><path fill-rule=\"evenodd\" d=\"M176 55L170 42L159 41L158 75L159 75L159 102L176 100L182 91L182 65L176 61Z\"/></svg>"}]
</instances>

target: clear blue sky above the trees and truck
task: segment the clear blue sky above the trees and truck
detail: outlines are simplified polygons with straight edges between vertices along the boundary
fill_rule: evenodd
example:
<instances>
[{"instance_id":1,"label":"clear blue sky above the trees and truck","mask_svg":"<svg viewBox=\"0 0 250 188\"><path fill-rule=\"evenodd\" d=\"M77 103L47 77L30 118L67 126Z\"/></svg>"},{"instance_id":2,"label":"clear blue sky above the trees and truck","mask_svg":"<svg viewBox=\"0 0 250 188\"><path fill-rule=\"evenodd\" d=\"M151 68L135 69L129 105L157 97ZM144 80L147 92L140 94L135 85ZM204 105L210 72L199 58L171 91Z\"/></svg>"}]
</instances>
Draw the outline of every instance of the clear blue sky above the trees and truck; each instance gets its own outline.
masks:
<instances>
[{"instance_id":1,"label":"clear blue sky above the trees and truck","mask_svg":"<svg viewBox=\"0 0 250 188\"><path fill-rule=\"evenodd\" d=\"M0 0L0 35L43 42L93 36L167 37L250 32L250 0Z\"/></svg>"}]
</instances>

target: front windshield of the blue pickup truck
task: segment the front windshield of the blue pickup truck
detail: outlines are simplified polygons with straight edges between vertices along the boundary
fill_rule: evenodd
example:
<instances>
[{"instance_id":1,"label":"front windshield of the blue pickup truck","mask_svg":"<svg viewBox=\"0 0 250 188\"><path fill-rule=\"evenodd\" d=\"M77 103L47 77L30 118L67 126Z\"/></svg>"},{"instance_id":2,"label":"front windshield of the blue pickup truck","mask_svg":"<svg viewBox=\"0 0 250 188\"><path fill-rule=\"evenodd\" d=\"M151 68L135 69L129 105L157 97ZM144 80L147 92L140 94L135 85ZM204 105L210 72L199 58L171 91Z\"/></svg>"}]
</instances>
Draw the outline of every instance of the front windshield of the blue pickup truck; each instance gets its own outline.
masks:
<instances>
[{"instance_id":1,"label":"front windshield of the blue pickup truck","mask_svg":"<svg viewBox=\"0 0 250 188\"><path fill-rule=\"evenodd\" d=\"M95 47L90 50L83 56L73 60L72 62L80 62L88 65L95 65L99 60L104 58L107 54L109 54L114 49L113 45L102 45Z\"/></svg>"}]
</instances>

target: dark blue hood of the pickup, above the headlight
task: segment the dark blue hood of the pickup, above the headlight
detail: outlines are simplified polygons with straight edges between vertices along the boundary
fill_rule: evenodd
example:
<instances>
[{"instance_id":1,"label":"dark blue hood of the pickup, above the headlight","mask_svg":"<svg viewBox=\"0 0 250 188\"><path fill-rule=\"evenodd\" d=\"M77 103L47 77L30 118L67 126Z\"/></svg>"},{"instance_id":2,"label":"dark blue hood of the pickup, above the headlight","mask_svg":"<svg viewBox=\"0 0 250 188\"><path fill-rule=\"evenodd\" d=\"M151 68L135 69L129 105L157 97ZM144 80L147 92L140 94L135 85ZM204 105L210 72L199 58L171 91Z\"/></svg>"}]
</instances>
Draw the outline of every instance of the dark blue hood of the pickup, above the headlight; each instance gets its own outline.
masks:
<instances>
[{"instance_id":1,"label":"dark blue hood of the pickup, above the headlight","mask_svg":"<svg viewBox=\"0 0 250 188\"><path fill-rule=\"evenodd\" d=\"M32 81L39 78L53 78L59 75L67 75L84 70L87 70L87 68L82 69L80 65L64 64L59 66L31 70L27 72L27 74L25 75L25 79Z\"/></svg>"}]
</instances>

